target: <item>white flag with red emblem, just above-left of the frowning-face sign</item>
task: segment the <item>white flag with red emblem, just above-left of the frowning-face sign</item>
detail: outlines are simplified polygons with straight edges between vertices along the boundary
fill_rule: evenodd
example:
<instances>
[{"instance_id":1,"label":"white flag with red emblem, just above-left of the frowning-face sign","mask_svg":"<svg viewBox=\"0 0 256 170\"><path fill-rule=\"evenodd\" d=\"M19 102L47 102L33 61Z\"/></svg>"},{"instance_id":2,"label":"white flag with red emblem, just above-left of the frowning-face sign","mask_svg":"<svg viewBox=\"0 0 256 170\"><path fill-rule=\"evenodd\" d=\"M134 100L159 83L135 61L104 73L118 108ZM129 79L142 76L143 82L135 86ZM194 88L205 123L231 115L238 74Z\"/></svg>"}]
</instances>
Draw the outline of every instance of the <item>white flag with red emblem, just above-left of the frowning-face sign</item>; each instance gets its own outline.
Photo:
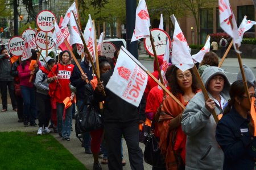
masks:
<instances>
[{"instance_id":1,"label":"white flag with red emblem, just above-left of the frowning-face sign","mask_svg":"<svg viewBox=\"0 0 256 170\"><path fill-rule=\"evenodd\" d=\"M141 38L150 36L150 17L147 11L145 0L139 0L139 5L136 9L135 29L131 42L137 41Z\"/></svg>"}]
</instances>

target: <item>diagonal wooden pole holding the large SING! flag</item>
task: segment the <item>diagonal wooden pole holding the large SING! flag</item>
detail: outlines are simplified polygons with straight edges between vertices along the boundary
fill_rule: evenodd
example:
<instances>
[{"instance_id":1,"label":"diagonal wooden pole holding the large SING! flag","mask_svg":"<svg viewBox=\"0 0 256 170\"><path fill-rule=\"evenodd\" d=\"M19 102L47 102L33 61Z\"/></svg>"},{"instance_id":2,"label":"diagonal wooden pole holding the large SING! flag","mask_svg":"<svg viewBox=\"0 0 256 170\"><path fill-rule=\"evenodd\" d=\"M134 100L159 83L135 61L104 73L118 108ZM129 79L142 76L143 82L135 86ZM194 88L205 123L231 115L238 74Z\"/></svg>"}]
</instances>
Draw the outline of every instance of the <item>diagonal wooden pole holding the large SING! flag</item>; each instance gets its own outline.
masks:
<instances>
[{"instance_id":1,"label":"diagonal wooden pole holding the large SING! flag","mask_svg":"<svg viewBox=\"0 0 256 170\"><path fill-rule=\"evenodd\" d=\"M123 50L123 48L125 47L121 47L121 49ZM123 50L125 52L125 50ZM126 52L125 52L126 53ZM179 101L179 99L177 99L167 88L166 86L164 86L161 82L158 81L158 79L155 78L155 76L152 75L152 73L150 71L148 71L147 69L145 69L144 67L141 67L141 63L138 63L136 60L133 59L133 57L130 56L129 53L126 53L127 56L129 56L131 58L131 60L133 60L144 72L146 72L148 74L148 76L150 76L162 89L164 92L166 92L167 94L169 94L169 96L171 96L171 98L173 98L178 105L180 105L180 107L182 107L182 109L185 110L185 106Z\"/></svg>"}]
</instances>

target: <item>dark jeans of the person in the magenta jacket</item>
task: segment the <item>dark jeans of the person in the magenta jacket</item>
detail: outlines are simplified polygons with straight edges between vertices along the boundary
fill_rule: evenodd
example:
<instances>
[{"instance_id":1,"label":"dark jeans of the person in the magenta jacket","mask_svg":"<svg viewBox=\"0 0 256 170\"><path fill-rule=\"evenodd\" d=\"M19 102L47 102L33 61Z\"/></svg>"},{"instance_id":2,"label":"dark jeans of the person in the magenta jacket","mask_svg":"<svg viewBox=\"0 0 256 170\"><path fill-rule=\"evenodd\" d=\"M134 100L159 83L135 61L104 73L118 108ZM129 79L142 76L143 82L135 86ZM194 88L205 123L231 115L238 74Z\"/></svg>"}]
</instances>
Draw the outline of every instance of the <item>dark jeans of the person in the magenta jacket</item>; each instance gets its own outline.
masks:
<instances>
[{"instance_id":1,"label":"dark jeans of the person in the magenta jacket","mask_svg":"<svg viewBox=\"0 0 256 170\"><path fill-rule=\"evenodd\" d=\"M35 123L36 119L36 98L34 87L20 86L23 97L24 121Z\"/></svg>"}]
</instances>

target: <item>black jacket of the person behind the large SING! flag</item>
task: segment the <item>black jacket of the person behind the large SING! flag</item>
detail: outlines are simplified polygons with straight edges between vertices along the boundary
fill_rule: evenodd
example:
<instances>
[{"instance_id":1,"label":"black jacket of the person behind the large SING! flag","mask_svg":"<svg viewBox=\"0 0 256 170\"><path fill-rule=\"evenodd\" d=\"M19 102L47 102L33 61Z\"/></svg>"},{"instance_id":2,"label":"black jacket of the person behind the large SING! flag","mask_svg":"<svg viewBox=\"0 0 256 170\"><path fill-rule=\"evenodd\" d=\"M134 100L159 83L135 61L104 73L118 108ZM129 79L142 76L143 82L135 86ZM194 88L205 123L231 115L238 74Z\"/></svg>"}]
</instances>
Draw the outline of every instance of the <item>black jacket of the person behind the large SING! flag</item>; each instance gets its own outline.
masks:
<instances>
[{"instance_id":1,"label":"black jacket of the person behind the large SING! flag","mask_svg":"<svg viewBox=\"0 0 256 170\"><path fill-rule=\"evenodd\" d=\"M109 78L112 76L114 70L106 72L101 75L101 81L104 83L104 87L108 84ZM118 89L117 89L118 90ZM130 121L145 121L146 116L144 114L146 107L146 100L143 97L139 107L131 105L130 103L124 101L109 89L105 88L106 96L102 93L98 93L94 90L93 97L94 101L101 102L104 101L104 122L130 122Z\"/></svg>"}]
</instances>

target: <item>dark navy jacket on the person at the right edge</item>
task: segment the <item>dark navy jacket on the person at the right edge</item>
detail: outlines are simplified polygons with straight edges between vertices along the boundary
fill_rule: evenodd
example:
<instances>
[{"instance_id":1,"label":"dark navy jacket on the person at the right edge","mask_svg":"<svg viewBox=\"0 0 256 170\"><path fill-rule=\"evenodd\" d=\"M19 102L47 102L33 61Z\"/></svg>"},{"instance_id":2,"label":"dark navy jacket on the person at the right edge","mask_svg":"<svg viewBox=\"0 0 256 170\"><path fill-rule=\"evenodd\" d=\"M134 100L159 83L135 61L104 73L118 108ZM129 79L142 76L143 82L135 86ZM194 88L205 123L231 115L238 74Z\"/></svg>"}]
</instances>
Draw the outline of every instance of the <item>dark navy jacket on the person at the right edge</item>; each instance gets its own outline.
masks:
<instances>
[{"instance_id":1,"label":"dark navy jacket on the person at the right edge","mask_svg":"<svg viewBox=\"0 0 256 170\"><path fill-rule=\"evenodd\" d=\"M249 132L249 122L234 107L218 122L216 140L225 155L224 170L254 169L256 138Z\"/></svg>"}]
</instances>

